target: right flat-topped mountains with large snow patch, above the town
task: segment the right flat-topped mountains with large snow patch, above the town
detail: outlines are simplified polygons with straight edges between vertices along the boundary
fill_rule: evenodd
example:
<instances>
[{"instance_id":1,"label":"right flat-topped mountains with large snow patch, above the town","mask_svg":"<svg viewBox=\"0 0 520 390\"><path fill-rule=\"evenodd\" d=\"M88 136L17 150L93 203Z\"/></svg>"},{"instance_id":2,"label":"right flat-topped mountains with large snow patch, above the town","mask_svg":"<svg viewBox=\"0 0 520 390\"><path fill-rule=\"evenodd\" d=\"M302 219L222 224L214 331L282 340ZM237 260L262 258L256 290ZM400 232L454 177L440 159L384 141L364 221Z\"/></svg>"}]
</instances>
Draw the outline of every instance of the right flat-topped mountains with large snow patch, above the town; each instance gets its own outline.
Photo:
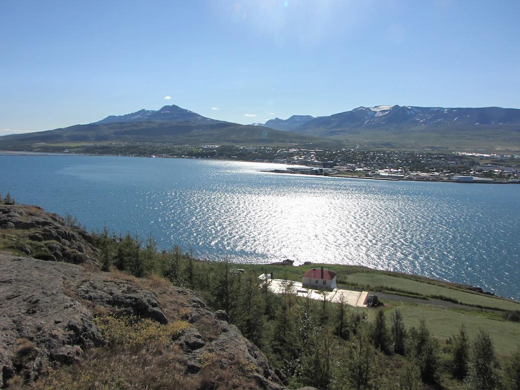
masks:
<instances>
[{"instance_id":1,"label":"right flat-topped mountains with large snow patch, above the town","mask_svg":"<svg viewBox=\"0 0 520 390\"><path fill-rule=\"evenodd\" d=\"M520 150L520 110L512 108L358 107L264 126L367 147Z\"/></svg>"}]
</instances>

